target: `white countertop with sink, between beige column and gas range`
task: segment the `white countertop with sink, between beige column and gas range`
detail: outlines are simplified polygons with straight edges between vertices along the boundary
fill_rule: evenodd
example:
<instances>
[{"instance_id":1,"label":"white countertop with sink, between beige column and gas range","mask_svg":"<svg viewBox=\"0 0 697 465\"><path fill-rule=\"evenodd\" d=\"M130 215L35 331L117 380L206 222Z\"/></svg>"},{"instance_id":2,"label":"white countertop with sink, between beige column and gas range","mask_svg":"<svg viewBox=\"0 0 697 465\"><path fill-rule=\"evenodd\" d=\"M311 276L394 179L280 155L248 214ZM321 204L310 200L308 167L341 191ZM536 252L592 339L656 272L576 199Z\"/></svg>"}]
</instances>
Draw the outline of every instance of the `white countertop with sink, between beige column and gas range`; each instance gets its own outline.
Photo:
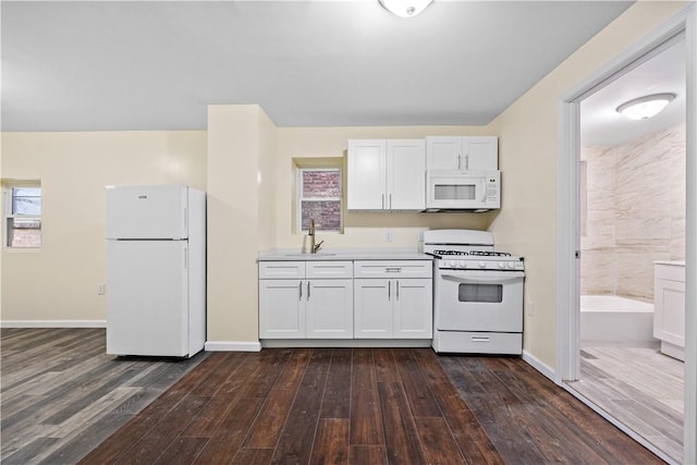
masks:
<instances>
[{"instance_id":1,"label":"white countertop with sink, between beige column and gas range","mask_svg":"<svg viewBox=\"0 0 697 465\"><path fill-rule=\"evenodd\" d=\"M430 255L416 248L334 248L317 254L299 250L261 250L258 261L304 261L304 260L432 260Z\"/></svg>"}]
</instances>

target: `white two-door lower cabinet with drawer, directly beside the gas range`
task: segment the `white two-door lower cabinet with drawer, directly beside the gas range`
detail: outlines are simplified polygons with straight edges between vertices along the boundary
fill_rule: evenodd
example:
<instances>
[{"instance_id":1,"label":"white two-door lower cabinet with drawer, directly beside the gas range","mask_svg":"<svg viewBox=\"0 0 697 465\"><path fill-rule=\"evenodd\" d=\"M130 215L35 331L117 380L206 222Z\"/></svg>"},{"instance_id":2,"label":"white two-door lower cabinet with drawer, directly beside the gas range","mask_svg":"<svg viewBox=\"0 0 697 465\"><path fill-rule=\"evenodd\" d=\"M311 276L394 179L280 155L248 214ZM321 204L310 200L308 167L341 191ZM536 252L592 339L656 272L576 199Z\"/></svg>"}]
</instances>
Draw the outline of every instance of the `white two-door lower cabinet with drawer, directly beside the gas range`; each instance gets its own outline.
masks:
<instances>
[{"instance_id":1,"label":"white two-door lower cabinet with drawer, directly beside the gas range","mask_svg":"<svg viewBox=\"0 0 697 465\"><path fill-rule=\"evenodd\" d=\"M430 261L356 261L354 338L431 339L431 277Z\"/></svg>"}]
</instances>

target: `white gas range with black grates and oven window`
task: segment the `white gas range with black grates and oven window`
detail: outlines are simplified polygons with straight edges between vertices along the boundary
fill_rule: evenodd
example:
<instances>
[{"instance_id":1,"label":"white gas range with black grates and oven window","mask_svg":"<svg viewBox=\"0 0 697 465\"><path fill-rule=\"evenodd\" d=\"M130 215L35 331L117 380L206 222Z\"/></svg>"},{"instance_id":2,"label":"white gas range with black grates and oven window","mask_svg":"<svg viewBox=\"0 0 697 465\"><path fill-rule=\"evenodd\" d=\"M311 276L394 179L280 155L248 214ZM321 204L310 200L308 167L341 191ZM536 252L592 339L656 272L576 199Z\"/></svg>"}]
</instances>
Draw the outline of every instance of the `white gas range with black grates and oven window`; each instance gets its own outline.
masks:
<instances>
[{"instance_id":1,"label":"white gas range with black grates and oven window","mask_svg":"<svg viewBox=\"0 0 697 465\"><path fill-rule=\"evenodd\" d=\"M424 231L420 240L435 257L433 350L521 355L523 258L496 252L486 231Z\"/></svg>"}]
</instances>

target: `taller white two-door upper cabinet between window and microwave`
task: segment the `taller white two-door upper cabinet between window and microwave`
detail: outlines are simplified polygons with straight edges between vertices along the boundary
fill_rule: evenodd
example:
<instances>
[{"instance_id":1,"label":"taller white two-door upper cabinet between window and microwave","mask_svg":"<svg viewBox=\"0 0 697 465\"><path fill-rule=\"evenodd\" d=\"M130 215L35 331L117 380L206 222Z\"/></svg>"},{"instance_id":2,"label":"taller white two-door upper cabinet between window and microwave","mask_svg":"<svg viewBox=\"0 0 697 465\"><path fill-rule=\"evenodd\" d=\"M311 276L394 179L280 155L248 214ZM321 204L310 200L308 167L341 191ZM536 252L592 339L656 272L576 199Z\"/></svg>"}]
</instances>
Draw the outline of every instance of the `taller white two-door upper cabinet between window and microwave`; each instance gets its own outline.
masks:
<instances>
[{"instance_id":1,"label":"taller white two-door upper cabinet between window and microwave","mask_svg":"<svg viewBox=\"0 0 697 465\"><path fill-rule=\"evenodd\" d=\"M423 210L426 144L423 139L348 140L350 210Z\"/></svg>"}]
</instances>

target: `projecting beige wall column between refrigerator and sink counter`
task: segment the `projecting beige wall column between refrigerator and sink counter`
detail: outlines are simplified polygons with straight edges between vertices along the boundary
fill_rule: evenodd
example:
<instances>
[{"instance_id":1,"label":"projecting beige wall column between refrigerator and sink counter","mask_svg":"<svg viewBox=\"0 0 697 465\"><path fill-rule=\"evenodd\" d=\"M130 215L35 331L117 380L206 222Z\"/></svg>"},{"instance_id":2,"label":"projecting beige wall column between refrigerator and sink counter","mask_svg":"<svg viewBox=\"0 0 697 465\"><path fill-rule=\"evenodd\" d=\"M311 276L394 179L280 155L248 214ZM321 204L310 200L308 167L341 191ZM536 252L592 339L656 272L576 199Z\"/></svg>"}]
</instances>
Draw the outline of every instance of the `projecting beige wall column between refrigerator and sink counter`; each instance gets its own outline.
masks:
<instances>
[{"instance_id":1,"label":"projecting beige wall column between refrigerator and sink counter","mask_svg":"<svg viewBox=\"0 0 697 465\"><path fill-rule=\"evenodd\" d=\"M259 106L208 107L209 342L258 341L256 258L272 237L259 230L272 227L260 208L272 205L262 194L273 185L267 175L272 139Z\"/></svg>"}]
</instances>

